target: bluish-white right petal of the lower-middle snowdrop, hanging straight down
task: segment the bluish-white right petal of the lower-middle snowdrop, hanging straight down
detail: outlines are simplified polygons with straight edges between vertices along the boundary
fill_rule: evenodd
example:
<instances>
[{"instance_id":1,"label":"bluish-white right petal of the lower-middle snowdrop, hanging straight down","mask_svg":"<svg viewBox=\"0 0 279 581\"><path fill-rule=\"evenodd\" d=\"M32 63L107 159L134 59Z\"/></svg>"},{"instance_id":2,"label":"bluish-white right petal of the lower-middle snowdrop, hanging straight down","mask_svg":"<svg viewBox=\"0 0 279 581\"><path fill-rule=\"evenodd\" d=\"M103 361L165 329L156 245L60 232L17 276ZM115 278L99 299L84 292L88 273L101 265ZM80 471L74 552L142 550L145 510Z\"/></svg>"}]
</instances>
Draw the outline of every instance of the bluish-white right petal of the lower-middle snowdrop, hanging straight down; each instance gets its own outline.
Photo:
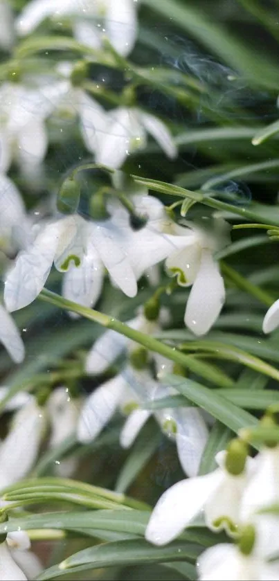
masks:
<instances>
[{"instance_id":1,"label":"bluish-white right petal of the lower-middle snowdrop, hanging straight down","mask_svg":"<svg viewBox=\"0 0 279 581\"><path fill-rule=\"evenodd\" d=\"M199 410L183 408L174 410L177 423L177 452L184 472L188 476L197 476L199 463L208 440L206 422Z\"/></svg>"}]
</instances>

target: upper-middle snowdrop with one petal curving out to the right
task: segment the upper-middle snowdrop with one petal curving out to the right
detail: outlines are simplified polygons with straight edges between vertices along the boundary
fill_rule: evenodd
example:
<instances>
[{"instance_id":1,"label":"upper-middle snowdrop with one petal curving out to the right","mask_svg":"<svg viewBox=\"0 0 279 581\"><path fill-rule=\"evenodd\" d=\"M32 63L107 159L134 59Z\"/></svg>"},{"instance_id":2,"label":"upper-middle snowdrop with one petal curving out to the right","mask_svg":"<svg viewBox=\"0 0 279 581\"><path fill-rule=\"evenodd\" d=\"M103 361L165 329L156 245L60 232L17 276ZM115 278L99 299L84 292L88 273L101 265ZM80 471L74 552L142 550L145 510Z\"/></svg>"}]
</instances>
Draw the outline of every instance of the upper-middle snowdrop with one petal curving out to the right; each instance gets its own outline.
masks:
<instances>
[{"instance_id":1,"label":"upper-middle snowdrop with one petal curving out to the right","mask_svg":"<svg viewBox=\"0 0 279 581\"><path fill-rule=\"evenodd\" d=\"M136 107L117 107L109 111L98 141L89 138L87 146L95 154L96 163L118 169L129 154L146 147L147 133L170 159L177 157L176 145L165 123Z\"/></svg>"}]
</instances>

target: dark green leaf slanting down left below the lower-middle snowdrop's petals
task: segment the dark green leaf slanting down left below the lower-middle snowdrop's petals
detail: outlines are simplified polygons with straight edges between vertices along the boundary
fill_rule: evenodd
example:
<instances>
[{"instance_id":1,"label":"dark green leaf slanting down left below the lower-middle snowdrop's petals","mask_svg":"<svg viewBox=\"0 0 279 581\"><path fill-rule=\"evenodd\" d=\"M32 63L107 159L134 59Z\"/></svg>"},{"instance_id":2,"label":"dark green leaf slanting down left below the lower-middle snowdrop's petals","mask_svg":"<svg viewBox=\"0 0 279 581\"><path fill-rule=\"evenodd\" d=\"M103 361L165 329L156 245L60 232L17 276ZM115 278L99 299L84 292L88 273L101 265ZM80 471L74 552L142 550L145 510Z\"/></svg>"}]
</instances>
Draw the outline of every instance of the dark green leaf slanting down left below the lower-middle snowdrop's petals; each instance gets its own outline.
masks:
<instances>
[{"instance_id":1,"label":"dark green leaf slanting down left below the lower-middle snowdrop's petals","mask_svg":"<svg viewBox=\"0 0 279 581\"><path fill-rule=\"evenodd\" d=\"M131 453L118 474L116 491L125 492L143 467L150 461L161 440L161 431L155 422L149 422L136 438Z\"/></svg>"}]
</instances>

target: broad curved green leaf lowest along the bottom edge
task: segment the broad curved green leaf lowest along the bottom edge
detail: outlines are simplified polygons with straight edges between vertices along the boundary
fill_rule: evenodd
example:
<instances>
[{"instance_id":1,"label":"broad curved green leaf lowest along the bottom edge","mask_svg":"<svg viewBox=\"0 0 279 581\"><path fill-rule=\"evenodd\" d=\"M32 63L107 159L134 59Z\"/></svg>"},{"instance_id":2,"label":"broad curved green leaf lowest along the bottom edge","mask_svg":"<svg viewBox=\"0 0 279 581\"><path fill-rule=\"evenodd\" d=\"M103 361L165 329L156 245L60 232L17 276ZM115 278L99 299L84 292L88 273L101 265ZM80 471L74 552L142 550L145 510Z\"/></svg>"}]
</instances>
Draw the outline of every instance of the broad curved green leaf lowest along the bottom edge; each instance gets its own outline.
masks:
<instances>
[{"instance_id":1,"label":"broad curved green leaf lowest along the bottom edge","mask_svg":"<svg viewBox=\"0 0 279 581\"><path fill-rule=\"evenodd\" d=\"M154 547L143 539L132 539L100 544L71 555L57 567L46 569L37 577L37 581L53 579L58 575L87 569L101 569L116 565L137 565L142 563L163 563L187 561L194 563L201 548L195 544L175 541L165 547ZM69 571L71 569L71 571Z\"/></svg>"}]
</instances>

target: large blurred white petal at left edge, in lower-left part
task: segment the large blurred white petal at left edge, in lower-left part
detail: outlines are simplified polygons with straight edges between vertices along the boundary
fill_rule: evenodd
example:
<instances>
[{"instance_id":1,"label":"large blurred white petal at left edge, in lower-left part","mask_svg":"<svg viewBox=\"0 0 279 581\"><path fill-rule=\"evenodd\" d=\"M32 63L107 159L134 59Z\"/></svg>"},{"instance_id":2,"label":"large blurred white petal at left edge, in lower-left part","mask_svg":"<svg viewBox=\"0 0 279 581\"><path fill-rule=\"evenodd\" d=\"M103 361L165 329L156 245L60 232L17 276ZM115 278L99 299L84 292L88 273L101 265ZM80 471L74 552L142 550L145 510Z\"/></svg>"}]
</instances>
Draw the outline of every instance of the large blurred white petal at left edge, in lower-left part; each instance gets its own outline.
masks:
<instances>
[{"instance_id":1,"label":"large blurred white petal at left edge, in lower-left part","mask_svg":"<svg viewBox=\"0 0 279 581\"><path fill-rule=\"evenodd\" d=\"M35 399L17 411L12 428L0 445L0 489L30 472L44 435L45 415Z\"/></svg>"}]
</instances>

